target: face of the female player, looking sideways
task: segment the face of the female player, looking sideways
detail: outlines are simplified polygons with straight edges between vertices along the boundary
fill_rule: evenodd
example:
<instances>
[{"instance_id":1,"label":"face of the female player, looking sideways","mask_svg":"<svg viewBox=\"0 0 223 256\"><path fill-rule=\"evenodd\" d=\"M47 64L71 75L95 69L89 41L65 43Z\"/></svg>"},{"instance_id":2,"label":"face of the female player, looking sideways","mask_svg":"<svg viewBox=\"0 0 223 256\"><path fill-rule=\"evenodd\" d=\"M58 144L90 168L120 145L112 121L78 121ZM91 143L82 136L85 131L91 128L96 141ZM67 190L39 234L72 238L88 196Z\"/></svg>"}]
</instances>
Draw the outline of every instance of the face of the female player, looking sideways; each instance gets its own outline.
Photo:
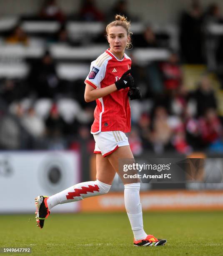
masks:
<instances>
[{"instance_id":1,"label":"face of the female player, looking sideways","mask_svg":"<svg viewBox=\"0 0 223 256\"><path fill-rule=\"evenodd\" d=\"M130 40L127 31L122 26L113 26L108 31L108 43L110 51L119 59L122 59L127 42Z\"/></svg>"}]
</instances>

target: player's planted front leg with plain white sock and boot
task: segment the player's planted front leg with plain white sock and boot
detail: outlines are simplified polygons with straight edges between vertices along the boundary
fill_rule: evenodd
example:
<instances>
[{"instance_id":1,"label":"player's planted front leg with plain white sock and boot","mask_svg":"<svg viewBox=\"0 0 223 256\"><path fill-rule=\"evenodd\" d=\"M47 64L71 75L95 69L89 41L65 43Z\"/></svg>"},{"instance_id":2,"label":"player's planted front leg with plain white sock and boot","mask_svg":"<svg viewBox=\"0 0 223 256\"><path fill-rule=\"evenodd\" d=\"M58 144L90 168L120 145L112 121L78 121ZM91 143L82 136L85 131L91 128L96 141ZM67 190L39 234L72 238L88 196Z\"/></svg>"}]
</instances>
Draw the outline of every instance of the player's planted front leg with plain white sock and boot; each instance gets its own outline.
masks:
<instances>
[{"instance_id":1,"label":"player's planted front leg with plain white sock and boot","mask_svg":"<svg viewBox=\"0 0 223 256\"><path fill-rule=\"evenodd\" d=\"M130 146L121 146L112 154L110 154L108 160L110 161L113 168L118 172L120 178L124 183L124 198L125 198L125 209L128 214L128 218L133 230L134 235L134 245L135 246L158 246L166 243L166 240L157 239L152 235L147 235L143 229L143 213L142 206L140 203L140 183L136 180L133 180L133 183L128 180L128 184L126 184L123 179L123 175L119 172L119 160L120 159L132 159L132 163L134 162L134 157ZM128 161L128 164L129 164Z\"/></svg>"}]
</instances>

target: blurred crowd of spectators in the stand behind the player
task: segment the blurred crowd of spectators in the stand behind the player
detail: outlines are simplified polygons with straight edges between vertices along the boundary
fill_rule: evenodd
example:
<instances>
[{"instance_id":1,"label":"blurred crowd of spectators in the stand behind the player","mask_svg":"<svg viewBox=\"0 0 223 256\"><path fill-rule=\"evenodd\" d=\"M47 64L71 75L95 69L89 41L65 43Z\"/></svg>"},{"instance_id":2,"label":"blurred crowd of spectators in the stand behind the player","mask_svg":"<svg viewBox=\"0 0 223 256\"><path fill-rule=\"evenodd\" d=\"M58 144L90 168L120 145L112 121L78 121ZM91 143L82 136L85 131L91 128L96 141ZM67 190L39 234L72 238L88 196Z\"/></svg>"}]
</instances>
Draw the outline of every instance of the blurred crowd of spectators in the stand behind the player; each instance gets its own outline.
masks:
<instances>
[{"instance_id":1,"label":"blurred crowd of spectators in the stand behind the player","mask_svg":"<svg viewBox=\"0 0 223 256\"><path fill-rule=\"evenodd\" d=\"M125 0L115 2L109 13L99 10L95 1L83 0L79 13L69 17L56 0L47 0L34 18L61 23L58 33L46 36L48 43L78 46L68 36L65 27L68 19L106 23L113 20L115 14L140 21L128 12L128 1ZM188 90L182 71L183 64L204 64L208 70L207 47L215 40L217 68L212 66L210 71L215 72L223 85L223 69L220 68L223 39L222 36L207 38L206 31L213 23L223 23L223 16L217 4L212 3L204 10L198 1L192 1L189 10L179 16L179 49L171 49L169 35L155 33L151 23L132 38L133 49L166 48L170 51L167 60L149 61L144 65L139 65L132 56L131 74L143 92L142 100L130 102L132 131L128 138L135 155L145 150L157 154L167 151L190 154L198 150L223 152L223 119L218 115L210 74L205 72L194 85L195 89ZM29 40L28 33L19 25L4 35L4 44L28 46ZM106 43L103 33L94 38L94 42ZM90 126L95 102L84 101L84 78L60 79L50 51L46 51L41 59L30 61L30 67L24 79L3 77L0 80L0 148L75 149L85 145L88 152L93 152Z\"/></svg>"}]
</instances>

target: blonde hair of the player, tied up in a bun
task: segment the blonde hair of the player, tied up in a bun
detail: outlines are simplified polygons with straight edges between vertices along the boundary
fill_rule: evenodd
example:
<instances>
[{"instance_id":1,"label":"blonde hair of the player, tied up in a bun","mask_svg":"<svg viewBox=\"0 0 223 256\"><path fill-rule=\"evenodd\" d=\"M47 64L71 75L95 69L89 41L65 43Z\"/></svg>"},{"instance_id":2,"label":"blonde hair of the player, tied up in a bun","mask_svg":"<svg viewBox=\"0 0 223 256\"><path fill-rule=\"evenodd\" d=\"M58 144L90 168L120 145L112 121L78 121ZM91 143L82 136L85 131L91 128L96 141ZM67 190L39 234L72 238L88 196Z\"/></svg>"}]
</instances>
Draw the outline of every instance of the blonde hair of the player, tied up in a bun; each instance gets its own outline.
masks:
<instances>
[{"instance_id":1,"label":"blonde hair of the player, tied up in a bun","mask_svg":"<svg viewBox=\"0 0 223 256\"><path fill-rule=\"evenodd\" d=\"M131 36L133 33L130 31L130 21L123 15L115 15L115 20L109 23L106 27L106 36L108 38L108 30L113 26L122 26L127 32L127 36ZM131 38L126 44L126 49L132 49Z\"/></svg>"}]
</instances>

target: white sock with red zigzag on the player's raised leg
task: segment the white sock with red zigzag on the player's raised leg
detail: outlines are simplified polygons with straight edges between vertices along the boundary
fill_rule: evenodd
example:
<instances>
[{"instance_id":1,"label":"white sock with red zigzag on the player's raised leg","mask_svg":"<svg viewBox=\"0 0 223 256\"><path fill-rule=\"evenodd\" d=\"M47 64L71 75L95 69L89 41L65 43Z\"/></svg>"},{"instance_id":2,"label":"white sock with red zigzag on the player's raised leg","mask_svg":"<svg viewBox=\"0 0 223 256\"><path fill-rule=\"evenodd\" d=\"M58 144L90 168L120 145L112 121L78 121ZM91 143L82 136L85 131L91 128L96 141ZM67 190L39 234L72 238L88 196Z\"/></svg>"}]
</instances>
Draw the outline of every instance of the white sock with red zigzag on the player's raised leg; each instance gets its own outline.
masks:
<instances>
[{"instance_id":1,"label":"white sock with red zigzag on the player's raised leg","mask_svg":"<svg viewBox=\"0 0 223 256\"><path fill-rule=\"evenodd\" d=\"M98 179L78 183L49 197L47 200L48 208L51 209L58 204L83 200L85 197L106 194L110 190L110 187L111 185L100 182Z\"/></svg>"}]
</instances>

